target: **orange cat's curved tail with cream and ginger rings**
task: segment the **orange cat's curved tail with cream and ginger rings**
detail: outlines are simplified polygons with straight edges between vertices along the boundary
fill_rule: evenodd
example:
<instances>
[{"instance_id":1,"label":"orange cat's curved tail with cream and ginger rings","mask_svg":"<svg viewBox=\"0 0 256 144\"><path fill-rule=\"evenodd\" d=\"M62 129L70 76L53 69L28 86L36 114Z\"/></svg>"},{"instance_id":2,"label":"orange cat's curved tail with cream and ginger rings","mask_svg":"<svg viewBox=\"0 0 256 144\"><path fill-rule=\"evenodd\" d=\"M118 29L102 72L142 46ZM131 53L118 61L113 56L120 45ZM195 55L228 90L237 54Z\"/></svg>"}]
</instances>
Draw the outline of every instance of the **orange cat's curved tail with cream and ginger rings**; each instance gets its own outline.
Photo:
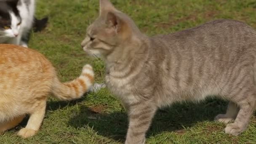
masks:
<instances>
[{"instance_id":1,"label":"orange cat's curved tail with cream and ginger rings","mask_svg":"<svg viewBox=\"0 0 256 144\"><path fill-rule=\"evenodd\" d=\"M56 77L53 83L52 93L58 99L69 101L79 99L91 88L94 82L94 72L91 65L86 64L80 77L71 82L61 83Z\"/></svg>"}]
</instances>

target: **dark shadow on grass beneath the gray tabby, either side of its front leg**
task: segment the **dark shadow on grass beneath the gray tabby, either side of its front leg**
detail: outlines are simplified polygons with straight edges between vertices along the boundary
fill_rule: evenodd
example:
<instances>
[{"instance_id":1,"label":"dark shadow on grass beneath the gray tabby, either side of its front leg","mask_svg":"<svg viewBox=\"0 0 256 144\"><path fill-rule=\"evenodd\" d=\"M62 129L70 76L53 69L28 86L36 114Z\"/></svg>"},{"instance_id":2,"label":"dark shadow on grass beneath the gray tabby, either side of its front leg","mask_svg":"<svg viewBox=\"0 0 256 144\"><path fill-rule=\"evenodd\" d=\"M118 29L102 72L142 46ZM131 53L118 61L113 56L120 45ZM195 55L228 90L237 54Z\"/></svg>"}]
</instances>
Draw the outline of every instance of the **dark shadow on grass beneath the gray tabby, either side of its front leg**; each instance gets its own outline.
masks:
<instances>
[{"instance_id":1,"label":"dark shadow on grass beneath the gray tabby, either side of its front leg","mask_svg":"<svg viewBox=\"0 0 256 144\"><path fill-rule=\"evenodd\" d=\"M164 131L182 133L184 128L193 126L198 122L214 120L214 117L219 113L224 113L226 108L227 101L219 99L208 99L197 104L173 104L171 107L158 110L152 126L147 132L147 137L155 136ZM124 142L128 128L127 118L125 110L104 114L83 106L81 113L70 119L69 125L74 128L88 125L101 136Z\"/></svg>"}]
</instances>

